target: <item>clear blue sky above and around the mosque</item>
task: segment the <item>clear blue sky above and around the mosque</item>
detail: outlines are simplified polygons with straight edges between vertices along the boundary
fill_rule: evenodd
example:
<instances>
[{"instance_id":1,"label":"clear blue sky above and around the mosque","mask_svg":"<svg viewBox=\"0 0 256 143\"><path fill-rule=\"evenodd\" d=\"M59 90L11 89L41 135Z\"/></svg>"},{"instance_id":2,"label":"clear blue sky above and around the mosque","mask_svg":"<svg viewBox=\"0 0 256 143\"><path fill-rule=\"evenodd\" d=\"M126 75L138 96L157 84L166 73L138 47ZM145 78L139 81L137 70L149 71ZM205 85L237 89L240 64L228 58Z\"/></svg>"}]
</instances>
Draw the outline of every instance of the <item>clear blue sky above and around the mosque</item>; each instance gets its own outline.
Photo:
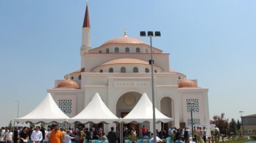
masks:
<instances>
[{"instance_id":1,"label":"clear blue sky above and around the mosque","mask_svg":"<svg viewBox=\"0 0 256 143\"><path fill-rule=\"evenodd\" d=\"M32 111L80 68L85 0L0 1L0 126ZM153 46L170 67L209 88L210 117L256 113L256 1L89 1L92 47L141 30L160 30Z\"/></svg>"}]
</instances>

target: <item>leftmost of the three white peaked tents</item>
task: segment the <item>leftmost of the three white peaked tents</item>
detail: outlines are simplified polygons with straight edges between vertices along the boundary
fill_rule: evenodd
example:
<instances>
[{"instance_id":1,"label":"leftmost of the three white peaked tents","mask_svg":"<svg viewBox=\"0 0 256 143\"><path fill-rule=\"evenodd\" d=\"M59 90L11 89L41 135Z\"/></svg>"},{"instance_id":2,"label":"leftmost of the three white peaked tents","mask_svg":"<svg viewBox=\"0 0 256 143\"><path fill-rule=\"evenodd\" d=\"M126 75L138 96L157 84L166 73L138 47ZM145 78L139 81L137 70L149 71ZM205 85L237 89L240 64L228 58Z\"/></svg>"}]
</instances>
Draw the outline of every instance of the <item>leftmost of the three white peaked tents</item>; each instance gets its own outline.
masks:
<instances>
[{"instance_id":1,"label":"leftmost of the three white peaked tents","mask_svg":"<svg viewBox=\"0 0 256 143\"><path fill-rule=\"evenodd\" d=\"M28 113L28 115L21 117L21 118L15 118L15 121L19 123L63 123L67 121L69 117L65 115L59 109L53 98L51 97L51 94L47 94L46 98L36 107L33 111Z\"/></svg>"}]
</instances>

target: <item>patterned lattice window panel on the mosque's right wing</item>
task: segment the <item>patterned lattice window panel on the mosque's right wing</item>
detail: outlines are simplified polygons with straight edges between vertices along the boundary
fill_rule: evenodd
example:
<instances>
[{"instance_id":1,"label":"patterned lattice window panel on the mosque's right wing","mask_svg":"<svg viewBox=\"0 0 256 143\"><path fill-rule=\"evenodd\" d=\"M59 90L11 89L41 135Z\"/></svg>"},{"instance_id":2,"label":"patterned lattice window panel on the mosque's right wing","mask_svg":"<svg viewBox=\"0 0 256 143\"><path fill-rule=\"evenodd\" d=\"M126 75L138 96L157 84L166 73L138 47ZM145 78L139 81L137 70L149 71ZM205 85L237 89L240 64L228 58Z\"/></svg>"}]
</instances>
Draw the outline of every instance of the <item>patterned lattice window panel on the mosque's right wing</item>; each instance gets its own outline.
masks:
<instances>
[{"instance_id":1,"label":"patterned lattice window panel on the mosque's right wing","mask_svg":"<svg viewBox=\"0 0 256 143\"><path fill-rule=\"evenodd\" d=\"M193 102L193 105L190 105L189 102ZM191 126L191 108L192 107L192 114L193 114L193 125L200 126L200 109L199 109L199 99L198 98L187 98L186 100L187 105L187 126ZM190 118L189 118L190 117Z\"/></svg>"}]
</instances>

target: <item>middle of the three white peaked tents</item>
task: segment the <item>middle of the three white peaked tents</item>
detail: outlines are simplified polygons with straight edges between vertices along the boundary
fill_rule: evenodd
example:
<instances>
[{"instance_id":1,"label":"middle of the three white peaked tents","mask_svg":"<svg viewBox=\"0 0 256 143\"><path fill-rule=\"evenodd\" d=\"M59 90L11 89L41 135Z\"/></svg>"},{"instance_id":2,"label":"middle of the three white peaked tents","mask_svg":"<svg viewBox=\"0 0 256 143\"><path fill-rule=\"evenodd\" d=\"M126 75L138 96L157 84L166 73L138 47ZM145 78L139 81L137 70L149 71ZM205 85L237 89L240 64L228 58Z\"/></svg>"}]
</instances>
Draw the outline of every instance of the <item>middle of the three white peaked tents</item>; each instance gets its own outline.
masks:
<instances>
[{"instance_id":1,"label":"middle of the three white peaked tents","mask_svg":"<svg viewBox=\"0 0 256 143\"><path fill-rule=\"evenodd\" d=\"M119 123L116 117L96 93L90 103L75 117L68 120L69 123Z\"/></svg>"}]
</instances>

